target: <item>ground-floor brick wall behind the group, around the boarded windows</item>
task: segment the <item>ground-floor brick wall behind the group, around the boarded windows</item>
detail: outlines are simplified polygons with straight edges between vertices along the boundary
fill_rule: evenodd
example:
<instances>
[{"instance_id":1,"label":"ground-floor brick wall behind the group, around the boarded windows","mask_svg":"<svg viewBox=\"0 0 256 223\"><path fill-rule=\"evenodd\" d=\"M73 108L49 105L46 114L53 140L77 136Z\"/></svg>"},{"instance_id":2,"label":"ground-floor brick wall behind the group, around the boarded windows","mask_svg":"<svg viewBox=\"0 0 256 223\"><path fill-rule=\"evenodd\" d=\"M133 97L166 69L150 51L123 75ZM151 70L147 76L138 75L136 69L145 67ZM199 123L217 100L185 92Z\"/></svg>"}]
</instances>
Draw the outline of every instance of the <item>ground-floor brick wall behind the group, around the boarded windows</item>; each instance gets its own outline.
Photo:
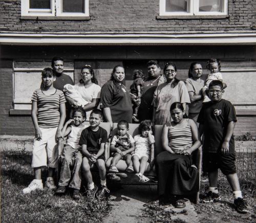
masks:
<instances>
[{"instance_id":1,"label":"ground-floor brick wall behind the group, around the boarded windows","mask_svg":"<svg viewBox=\"0 0 256 223\"><path fill-rule=\"evenodd\" d=\"M65 66L74 66L75 82L79 80L80 69L84 64L91 64L96 77L102 86L110 78L114 65L132 64L145 69L146 60L156 58L161 61L174 60L178 68L178 78L186 79L188 66L193 61L199 61L204 67L210 57L220 58L222 69L256 69L253 60L255 49L253 46L175 46L175 47L36 47L36 46L2 46L0 62L0 135L33 135L34 129L30 116L10 116L13 108L13 60L22 66L49 64L53 56L65 58ZM23 62L22 62L23 61ZM69 61L69 62L67 62ZM139 62L138 62L139 61ZM137 66L137 65L136 65ZM128 69L127 69L128 70ZM127 78L130 79L131 78ZM240 81L240 80L238 80ZM250 84L250 83L248 83ZM253 84L253 83L252 83ZM248 85L247 85L248 86ZM255 104L255 103L254 103ZM247 131L256 136L256 117L239 116L236 125L236 135Z\"/></svg>"}]
</instances>

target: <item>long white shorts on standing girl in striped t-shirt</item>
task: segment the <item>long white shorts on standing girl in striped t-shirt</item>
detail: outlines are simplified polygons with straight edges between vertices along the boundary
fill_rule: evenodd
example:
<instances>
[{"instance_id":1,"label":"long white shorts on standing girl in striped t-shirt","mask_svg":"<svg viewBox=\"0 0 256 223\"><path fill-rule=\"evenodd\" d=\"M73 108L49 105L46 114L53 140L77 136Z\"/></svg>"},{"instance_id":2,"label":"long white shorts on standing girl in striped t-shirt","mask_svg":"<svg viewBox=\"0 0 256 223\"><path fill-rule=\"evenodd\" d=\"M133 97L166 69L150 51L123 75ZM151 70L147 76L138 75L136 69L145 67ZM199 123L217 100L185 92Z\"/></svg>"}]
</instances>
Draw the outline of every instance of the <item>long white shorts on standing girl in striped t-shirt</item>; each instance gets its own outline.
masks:
<instances>
[{"instance_id":1,"label":"long white shorts on standing girl in striped t-shirt","mask_svg":"<svg viewBox=\"0 0 256 223\"><path fill-rule=\"evenodd\" d=\"M58 166L58 146L55 141L57 127L40 128L42 132L41 140L34 139L32 167L48 166L56 168Z\"/></svg>"}]
</instances>

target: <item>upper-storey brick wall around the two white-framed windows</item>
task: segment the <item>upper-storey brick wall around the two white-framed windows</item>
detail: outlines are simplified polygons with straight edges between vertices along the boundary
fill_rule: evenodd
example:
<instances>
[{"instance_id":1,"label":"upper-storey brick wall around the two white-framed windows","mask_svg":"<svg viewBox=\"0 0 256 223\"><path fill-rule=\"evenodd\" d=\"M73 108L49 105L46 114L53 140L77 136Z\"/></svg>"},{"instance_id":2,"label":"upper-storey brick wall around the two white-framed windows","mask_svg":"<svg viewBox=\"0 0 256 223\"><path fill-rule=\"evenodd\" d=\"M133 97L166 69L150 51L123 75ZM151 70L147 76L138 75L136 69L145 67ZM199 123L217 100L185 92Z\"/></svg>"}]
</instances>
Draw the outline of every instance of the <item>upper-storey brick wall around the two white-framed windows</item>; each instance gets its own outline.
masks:
<instances>
[{"instance_id":1,"label":"upper-storey brick wall around the two white-framed windows","mask_svg":"<svg viewBox=\"0 0 256 223\"><path fill-rule=\"evenodd\" d=\"M20 19L20 0L0 1L0 31L159 32L250 30L255 0L229 0L228 18L157 19L159 0L91 0L90 20ZM254 20L255 21L255 20Z\"/></svg>"}]
</instances>

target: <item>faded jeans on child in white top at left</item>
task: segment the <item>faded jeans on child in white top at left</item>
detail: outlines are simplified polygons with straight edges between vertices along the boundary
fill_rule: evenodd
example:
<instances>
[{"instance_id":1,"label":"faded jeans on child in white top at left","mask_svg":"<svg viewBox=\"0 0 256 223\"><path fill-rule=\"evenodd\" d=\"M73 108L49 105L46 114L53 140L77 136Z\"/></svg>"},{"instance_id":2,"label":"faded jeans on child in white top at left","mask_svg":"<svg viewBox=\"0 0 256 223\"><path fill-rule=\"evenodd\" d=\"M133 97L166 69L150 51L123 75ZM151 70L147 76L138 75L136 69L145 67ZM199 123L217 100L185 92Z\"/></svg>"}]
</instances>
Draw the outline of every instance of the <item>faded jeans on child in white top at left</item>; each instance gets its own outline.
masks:
<instances>
[{"instance_id":1,"label":"faded jeans on child in white top at left","mask_svg":"<svg viewBox=\"0 0 256 223\"><path fill-rule=\"evenodd\" d=\"M82 153L78 149L73 149L70 145L65 145L62 151L59 186L68 186L80 189L81 186L81 164ZM73 170L71 168L73 167Z\"/></svg>"}]
</instances>

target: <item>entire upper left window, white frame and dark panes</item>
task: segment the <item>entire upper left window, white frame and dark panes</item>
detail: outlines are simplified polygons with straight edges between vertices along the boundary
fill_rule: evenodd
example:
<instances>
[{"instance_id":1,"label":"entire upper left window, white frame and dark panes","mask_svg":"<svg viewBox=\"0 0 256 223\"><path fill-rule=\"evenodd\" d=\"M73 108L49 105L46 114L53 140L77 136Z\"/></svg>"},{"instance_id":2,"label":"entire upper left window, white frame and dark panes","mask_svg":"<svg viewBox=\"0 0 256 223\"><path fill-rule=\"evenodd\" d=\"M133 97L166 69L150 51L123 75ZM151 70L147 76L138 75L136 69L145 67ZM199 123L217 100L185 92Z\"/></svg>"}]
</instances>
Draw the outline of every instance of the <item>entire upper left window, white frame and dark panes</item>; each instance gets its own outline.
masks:
<instances>
[{"instance_id":1,"label":"entire upper left window, white frame and dark panes","mask_svg":"<svg viewBox=\"0 0 256 223\"><path fill-rule=\"evenodd\" d=\"M22 16L89 16L89 0L22 0Z\"/></svg>"}]
</instances>

